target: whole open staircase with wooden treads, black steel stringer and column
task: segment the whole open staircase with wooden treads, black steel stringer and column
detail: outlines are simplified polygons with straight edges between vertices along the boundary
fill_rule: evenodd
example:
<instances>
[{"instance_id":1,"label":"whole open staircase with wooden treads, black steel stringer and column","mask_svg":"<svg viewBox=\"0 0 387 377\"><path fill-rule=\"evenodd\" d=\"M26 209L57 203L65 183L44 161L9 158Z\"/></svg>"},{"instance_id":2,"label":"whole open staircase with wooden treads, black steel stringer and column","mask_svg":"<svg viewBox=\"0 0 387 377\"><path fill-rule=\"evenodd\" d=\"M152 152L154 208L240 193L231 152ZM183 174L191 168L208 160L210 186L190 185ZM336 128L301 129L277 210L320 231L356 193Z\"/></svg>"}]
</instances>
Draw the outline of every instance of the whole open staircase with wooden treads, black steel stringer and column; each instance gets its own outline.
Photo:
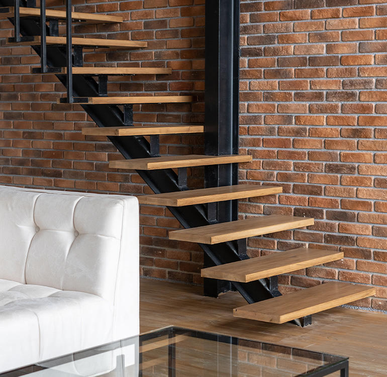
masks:
<instances>
[{"instance_id":1,"label":"whole open staircase with wooden treads, black steel stringer and column","mask_svg":"<svg viewBox=\"0 0 387 377\"><path fill-rule=\"evenodd\" d=\"M172 72L170 68L83 66L84 48L147 47L146 42L72 37L72 22L120 23L122 18L72 12L69 0L66 11L46 9L45 0L40 9L34 0L0 0L0 6L0 18L9 19L15 28L14 38L6 44L34 48L41 66L31 72L55 73L67 90L58 103L81 105L99 126L84 128L82 134L108 137L124 157L109 166L135 169L151 187L155 194L139 197L140 204L167 206L179 220L184 229L169 232L169 239L201 245L205 294L217 296L233 287L248 303L234 309L235 317L298 325L311 324L314 313L375 294L372 287L330 282L281 296L279 274L339 260L342 252L298 248L257 258L247 255L248 237L304 228L313 225L314 219L280 215L238 219L239 199L282 193L278 186L238 184L238 163L252 161L251 156L238 154L238 0L206 4L206 45L214 47L206 49L206 124L144 127L133 125L134 104L190 103L197 98L108 96L111 75ZM66 21L66 36L59 36L59 20ZM191 133L205 134L204 155L160 156L160 135ZM192 166L205 166L204 189L188 189L187 168Z\"/></svg>"}]
</instances>

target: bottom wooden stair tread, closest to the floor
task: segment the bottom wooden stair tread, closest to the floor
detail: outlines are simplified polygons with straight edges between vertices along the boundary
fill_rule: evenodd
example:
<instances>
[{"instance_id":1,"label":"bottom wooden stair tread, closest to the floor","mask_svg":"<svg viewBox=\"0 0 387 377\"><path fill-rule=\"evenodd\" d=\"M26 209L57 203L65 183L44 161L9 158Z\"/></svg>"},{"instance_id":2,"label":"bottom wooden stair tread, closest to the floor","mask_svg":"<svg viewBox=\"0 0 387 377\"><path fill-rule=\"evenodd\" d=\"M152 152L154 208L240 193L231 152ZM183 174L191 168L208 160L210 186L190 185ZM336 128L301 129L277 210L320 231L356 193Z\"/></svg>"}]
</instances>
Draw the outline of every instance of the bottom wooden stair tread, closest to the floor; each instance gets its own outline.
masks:
<instances>
[{"instance_id":1,"label":"bottom wooden stair tread, closest to the floor","mask_svg":"<svg viewBox=\"0 0 387 377\"><path fill-rule=\"evenodd\" d=\"M375 288L329 282L234 309L234 317L284 323L375 295Z\"/></svg>"}]
</instances>

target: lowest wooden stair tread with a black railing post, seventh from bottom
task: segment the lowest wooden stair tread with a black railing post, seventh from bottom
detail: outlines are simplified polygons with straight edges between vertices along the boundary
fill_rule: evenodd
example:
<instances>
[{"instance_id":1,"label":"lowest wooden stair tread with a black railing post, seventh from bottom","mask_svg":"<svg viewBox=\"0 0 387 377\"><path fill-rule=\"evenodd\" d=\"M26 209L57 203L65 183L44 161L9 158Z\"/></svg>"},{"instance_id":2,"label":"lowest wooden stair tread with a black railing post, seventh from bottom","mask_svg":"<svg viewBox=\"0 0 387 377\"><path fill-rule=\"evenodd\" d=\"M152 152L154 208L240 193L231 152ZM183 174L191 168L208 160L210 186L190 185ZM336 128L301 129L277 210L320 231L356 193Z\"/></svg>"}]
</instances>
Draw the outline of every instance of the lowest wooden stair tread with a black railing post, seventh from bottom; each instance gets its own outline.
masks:
<instances>
[{"instance_id":1,"label":"lowest wooden stair tread with a black railing post, seventh from bottom","mask_svg":"<svg viewBox=\"0 0 387 377\"><path fill-rule=\"evenodd\" d=\"M125 105L125 104L170 104L195 102L195 96L136 96L136 97L88 97L88 102L79 105ZM58 104L61 100L58 99Z\"/></svg>"}]
</instances>

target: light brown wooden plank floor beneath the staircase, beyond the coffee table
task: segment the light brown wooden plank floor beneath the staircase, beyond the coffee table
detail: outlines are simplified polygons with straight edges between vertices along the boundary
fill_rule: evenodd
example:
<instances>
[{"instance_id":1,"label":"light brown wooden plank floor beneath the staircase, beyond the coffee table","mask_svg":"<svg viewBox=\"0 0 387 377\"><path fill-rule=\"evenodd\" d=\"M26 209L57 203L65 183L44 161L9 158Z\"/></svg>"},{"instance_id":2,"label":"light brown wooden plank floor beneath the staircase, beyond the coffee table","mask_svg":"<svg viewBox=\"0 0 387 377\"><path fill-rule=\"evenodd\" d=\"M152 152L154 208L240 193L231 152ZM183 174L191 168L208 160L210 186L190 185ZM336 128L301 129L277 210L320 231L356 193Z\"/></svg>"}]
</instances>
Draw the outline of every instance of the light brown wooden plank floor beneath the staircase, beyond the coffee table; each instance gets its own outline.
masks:
<instances>
[{"instance_id":1,"label":"light brown wooden plank floor beneath the staircase, beyond the coffee table","mask_svg":"<svg viewBox=\"0 0 387 377\"><path fill-rule=\"evenodd\" d=\"M246 302L230 292L203 297L200 287L141 279L141 332L176 325L350 357L350 377L387 376L387 315L336 308L313 325L276 325L233 317ZM338 374L332 374L337 376Z\"/></svg>"}]
</instances>

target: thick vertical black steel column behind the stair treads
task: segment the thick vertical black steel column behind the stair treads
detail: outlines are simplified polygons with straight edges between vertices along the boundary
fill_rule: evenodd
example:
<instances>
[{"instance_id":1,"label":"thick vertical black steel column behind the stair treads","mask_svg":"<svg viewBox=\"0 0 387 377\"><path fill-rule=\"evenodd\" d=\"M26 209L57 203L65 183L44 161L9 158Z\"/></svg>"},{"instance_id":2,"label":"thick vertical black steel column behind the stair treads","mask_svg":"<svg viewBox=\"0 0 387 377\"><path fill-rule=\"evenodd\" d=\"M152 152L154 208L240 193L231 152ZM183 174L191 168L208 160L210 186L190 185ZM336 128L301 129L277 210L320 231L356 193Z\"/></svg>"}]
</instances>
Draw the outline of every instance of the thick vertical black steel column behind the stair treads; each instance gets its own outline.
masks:
<instances>
[{"instance_id":1,"label":"thick vertical black steel column behind the stair treads","mask_svg":"<svg viewBox=\"0 0 387 377\"><path fill-rule=\"evenodd\" d=\"M239 137L239 0L206 2L206 120L205 151L207 155L238 153ZM211 47L210 47L211 46ZM207 166L206 187L228 186L238 183L237 166L223 164ZM238 219L238 203L218 204L218 221ZM206 267L206 265L205 265ZM204 281L204 292L210 296L215 280ZM217 284L219 286L219 284ZM222 281L219 291L231 288ZM212 296L212 295L211 295ZM217 296L217 295L216 295Z\"/></svg>"}]
</instances>

